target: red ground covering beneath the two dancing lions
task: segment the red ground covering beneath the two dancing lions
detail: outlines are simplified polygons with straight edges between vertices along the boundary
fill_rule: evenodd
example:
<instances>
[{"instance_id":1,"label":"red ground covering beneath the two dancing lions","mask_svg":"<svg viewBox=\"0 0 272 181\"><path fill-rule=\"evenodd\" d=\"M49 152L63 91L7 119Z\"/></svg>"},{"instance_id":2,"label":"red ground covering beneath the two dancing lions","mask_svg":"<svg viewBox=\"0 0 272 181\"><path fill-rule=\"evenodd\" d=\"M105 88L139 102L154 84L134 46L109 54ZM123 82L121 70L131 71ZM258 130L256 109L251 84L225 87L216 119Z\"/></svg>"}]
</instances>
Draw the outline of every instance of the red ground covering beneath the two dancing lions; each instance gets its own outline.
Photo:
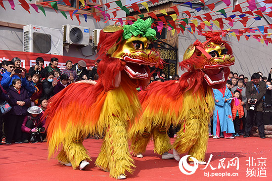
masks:
<instances>
[{"instance_id":1,"label":"red ground covering beneath the two dancing lions","mask_svg":"<svg viewBox=\"0 0 272 181\"><path fill-rule=\"evenodd\" d=\"M172 140L173 141L173 140ZM84 145L90 151L92 160L91 166L85 171L72 170L71 167L61 166L57 160L47 160L46 143L23 143L0 145L0 181L114 181L109 174L94 166L102 140L86 139ZM192 175L185 175L179 169L179 162L176 160L162 160L160 155L153 153L153 144L148 145L143 158L136 158L136 169L134 175L128 174L127 180L134 181L271 181L272 179L272 139L261 139L259 137L236 139L213 139L209 138L206 161L213 154L210 165L198 166ZM171 151L172 153L172 151ZM186 154L181 155L184 156ZM234 157L239 158L239 169L227 163ZM253 164L247 166L249 157L255 159ZM223 167L218 168L220 159L226 158ZM261 159L264 158L264 159ZM266 166L261 166L264 162ZM259 163L260 162L260 163ZM247 169L253 172L247 174ZM254 174L255 170L255 174ZM214 176L205 177L207 174L237 173L238 176ZM246 177L249 175L248 177ZM267 177L258 177L266 175ZM251 177L250 177L251 176Z\"/></svg>"}]
</instances>

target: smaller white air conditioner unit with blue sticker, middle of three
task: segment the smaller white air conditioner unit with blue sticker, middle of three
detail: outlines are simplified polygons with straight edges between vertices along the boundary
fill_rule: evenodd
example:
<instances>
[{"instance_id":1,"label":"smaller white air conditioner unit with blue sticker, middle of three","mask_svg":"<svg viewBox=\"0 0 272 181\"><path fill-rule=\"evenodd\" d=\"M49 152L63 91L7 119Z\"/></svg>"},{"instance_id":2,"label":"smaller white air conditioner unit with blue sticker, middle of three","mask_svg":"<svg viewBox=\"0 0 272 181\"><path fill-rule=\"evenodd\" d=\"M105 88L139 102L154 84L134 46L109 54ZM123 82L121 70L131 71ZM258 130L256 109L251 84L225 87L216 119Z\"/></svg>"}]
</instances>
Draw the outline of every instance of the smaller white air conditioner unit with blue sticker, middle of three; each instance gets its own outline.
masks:
<instances>
[{"instance_id":1,"label":"smaller white air conditioner unit with blue sticker, middle of three","mask_svg":"<svg viewBox=\"0 0 272 181\"><path fill-rule=\"evenodd\" d=\"M90 42L90 28L62 25L63 43L76 45L89 45Z\"/></svg>"}]
</instances>

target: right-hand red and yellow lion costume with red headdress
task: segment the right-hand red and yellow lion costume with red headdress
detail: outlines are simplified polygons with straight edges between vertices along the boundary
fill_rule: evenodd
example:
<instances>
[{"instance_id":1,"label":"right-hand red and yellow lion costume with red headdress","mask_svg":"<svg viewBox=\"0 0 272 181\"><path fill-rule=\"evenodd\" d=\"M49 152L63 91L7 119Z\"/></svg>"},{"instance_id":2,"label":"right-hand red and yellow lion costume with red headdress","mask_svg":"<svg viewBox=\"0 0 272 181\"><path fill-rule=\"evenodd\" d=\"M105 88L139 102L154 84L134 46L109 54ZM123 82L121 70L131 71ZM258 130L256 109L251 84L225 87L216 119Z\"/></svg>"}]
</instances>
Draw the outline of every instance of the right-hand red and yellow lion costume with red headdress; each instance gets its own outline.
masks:
<instances>
[{"instance_id":1,"label":"right-hand red and yellow lion costume with red headdress","mask_svg":"<svg viewBox=\"0 0 272 181\"><path fill-rule=\"evenodd\" d=\"M181 70L186 72L179 81L153 82L140 91L143 113L130 130L134 154L143 153L151 137L154 152L169 151L171 143L166 132L174 123L181 126L174 151L188 152L199 164L206 164L208 123L215 107L212 88L226 84L234 56L218 34L203 35L206 42L197 40L186 49L180 63Z\"/></svg>"}]
</instances>

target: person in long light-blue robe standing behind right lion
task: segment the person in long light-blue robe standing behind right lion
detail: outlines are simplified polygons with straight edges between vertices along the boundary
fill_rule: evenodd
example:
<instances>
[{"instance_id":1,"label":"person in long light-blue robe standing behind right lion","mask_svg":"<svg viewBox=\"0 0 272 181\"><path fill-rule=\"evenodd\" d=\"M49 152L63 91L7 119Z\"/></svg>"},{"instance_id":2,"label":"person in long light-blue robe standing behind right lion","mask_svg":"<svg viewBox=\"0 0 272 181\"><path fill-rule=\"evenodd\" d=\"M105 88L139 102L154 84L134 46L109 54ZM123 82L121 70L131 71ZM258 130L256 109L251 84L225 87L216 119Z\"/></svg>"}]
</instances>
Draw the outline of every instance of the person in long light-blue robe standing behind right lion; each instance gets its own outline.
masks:
<instances>
[{"instance_id":1,"label":"person in long light-blue robe standing behind right lion","mask_svg":"<svg viewBox=\"0 0 272 181\"><path fill-rule=\"evenodd\" d=\"M215 110L214 110L214 138L219 138L222 132L225 138L234 138L232 133L234 125L232 120L232 113L230 103L232 98L231 91L227 87L221 89L213 89L215 96Z\"/></svg>"}]
</instances>

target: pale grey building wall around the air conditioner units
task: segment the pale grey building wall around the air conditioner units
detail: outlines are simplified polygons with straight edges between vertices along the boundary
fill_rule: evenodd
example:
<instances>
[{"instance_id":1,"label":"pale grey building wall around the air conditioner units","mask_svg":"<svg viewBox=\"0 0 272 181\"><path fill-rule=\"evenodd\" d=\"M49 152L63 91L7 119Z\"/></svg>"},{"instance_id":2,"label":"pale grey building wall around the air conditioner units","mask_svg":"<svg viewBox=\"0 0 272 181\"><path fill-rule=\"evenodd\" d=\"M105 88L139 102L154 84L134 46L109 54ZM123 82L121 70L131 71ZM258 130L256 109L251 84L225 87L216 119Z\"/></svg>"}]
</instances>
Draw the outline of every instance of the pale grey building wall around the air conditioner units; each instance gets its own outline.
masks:
<instances>
[{"instance_id":1,"label":"pale grey building wall around the air conditioner units","mask_svg":"<svg viewBox=\"0 0 272 181\"><path fill-rule=\"evenodd\" d=\"M35 3L35 0L31 1L31 3ZM10 4L7 0L4 0L3 4L6 10L0 7L0 21L2 22L15 23L23 26L33 24L55 29L62 29L62 25L71 24L89 27L90 36L92 35L93 29L102 29L105 26L103 19L101 19L100 22L95 22L95 19L92 18L92 16L88 16L87 22L85 22L83 15L79 15L81 21L81 24L79 25L79 21L75 15L73 16L73 20L71 20L69 13L66 12L66 19L61 13L56 13L52 8L47 7L44 8L46 16L40 9L40 13L37 13L32 7L30 7L31 14L29 14L19 5L18 0L14 0L15 11L10 8ZM86 47L77 45L64 47L63 55L95 59L95 51L93 52L91 43L90 40L90 44ZM0 26L0 49L23 51L23 29Z\"/></svg>"}]
</instances>

